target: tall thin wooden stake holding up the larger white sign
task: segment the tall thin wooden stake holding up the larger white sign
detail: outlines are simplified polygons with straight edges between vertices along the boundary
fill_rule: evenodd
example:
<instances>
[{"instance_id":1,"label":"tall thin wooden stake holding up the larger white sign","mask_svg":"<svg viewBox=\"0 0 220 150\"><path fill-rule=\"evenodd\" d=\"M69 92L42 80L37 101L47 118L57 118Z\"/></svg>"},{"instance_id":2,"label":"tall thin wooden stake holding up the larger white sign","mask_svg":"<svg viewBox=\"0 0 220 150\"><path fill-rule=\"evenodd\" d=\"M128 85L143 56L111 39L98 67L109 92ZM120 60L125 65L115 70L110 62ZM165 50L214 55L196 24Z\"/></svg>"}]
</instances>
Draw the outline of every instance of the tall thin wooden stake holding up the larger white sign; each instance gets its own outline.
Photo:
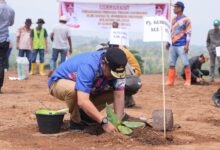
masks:
<instances>
[{"instance_id":1,"label":"tall thin wooden stake holding up the larger white sign","mask_svg":"<svg viewBox=\"0 0 220 150\"><path fill-rule=\"evenodd\" d=\"M163 125L164 138L166 138L166 93L165 93L165 65L164 65L164 41L163 41L163 27L161 26L161 51L162 51L162 86L163 86Z\"/></svg>"}]
</instances>

